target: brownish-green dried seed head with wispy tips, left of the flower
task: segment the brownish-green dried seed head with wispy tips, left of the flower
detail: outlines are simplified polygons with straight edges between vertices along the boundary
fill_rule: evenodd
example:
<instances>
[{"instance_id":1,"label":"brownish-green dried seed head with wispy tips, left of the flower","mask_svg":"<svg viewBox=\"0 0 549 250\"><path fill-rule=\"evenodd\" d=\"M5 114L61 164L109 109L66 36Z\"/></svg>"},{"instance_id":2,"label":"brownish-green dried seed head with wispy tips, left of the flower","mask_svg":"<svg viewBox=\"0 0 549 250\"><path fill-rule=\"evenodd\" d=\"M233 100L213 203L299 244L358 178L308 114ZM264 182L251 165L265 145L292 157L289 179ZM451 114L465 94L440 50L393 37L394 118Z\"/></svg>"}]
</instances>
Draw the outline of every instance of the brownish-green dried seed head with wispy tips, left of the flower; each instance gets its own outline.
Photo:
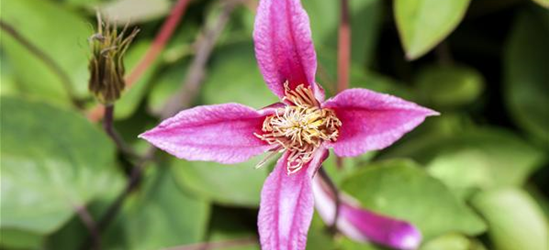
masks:
<instances>
[{"instance_id":1,"label":"brownish-green dried seed head with wispy tips, left of the flower","mask_svg":"<svg viewBox=\"0 0 549 250\"><path fill-rule=\"evenodd\" d=\"M124 90L124 53L139 32L134 29L126 35L128 26L118 34L116 27L104 23L97 14L97 33L88 42L92 51L89 63L90 81L88 88L103 104L112 104L120 98Z\"/></svg>"}]
</instances>

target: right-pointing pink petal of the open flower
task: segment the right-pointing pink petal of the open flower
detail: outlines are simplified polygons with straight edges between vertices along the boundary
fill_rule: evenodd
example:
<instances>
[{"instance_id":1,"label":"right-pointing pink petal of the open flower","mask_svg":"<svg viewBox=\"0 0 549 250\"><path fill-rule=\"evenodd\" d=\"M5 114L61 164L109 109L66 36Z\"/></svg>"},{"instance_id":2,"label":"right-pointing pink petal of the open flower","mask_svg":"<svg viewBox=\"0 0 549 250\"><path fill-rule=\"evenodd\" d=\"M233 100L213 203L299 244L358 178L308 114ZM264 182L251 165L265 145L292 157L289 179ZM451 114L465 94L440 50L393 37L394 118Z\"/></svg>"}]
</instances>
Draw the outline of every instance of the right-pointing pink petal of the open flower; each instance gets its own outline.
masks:
<instances>
[{"instance_id":1,"label":"right-pointing pink petal of the open flower","mask_svg":"<svg viewBox=\"0 0 549 250\"><path fill-rule=\"evenodd\" d=\"M338 156L383 149L437 112L366 89L348 89L323 105L335 110L342 126L333 147Z\"/></svg>"}]
</instances>

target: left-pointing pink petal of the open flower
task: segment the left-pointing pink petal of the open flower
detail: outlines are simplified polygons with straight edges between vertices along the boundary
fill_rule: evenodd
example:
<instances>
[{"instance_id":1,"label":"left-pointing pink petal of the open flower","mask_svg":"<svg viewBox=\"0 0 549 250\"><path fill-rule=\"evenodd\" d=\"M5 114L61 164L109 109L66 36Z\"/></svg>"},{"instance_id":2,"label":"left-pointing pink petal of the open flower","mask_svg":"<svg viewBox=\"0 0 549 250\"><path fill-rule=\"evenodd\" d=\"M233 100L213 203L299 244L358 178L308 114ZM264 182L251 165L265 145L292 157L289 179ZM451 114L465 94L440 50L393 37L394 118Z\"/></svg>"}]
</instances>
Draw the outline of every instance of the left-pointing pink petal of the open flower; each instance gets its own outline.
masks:
<instances>
[{"instance_id":1,"label":"left-pointing pink petal of the open flower","mask_svg":"<svg viewBox=\"0 0 549 250\"><path fill-rule=\"evenodd\" d=\"M272 147L254 135L269 112L237 103L199 106L181 111L139 137L182 159L238 163Z\"/></svg>"}]
</instances>

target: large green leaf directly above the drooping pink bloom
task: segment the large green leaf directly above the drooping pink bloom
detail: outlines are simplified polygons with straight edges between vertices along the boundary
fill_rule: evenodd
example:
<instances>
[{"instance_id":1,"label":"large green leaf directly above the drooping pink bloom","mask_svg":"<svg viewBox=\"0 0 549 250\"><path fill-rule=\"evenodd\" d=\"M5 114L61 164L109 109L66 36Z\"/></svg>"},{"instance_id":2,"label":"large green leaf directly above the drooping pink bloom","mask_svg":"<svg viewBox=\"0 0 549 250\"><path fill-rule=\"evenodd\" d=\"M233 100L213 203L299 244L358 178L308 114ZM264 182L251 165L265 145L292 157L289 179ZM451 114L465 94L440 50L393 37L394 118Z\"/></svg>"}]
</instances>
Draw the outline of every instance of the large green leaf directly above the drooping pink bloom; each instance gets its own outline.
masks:
<instances>
[{"instance_id":1,"label":"large green leaf directly above the drooping pink bloom","mask_svg":"<svg viewBox=\"0 0 549 250\"><path fill-rule=\"evenodd\" d=\"M477 235L485 230L475 213L413 162L393 160L364 167L343 183L343 190L367 209L413 223L425 240L449 232Z\"/></svg>"}]
</instances>

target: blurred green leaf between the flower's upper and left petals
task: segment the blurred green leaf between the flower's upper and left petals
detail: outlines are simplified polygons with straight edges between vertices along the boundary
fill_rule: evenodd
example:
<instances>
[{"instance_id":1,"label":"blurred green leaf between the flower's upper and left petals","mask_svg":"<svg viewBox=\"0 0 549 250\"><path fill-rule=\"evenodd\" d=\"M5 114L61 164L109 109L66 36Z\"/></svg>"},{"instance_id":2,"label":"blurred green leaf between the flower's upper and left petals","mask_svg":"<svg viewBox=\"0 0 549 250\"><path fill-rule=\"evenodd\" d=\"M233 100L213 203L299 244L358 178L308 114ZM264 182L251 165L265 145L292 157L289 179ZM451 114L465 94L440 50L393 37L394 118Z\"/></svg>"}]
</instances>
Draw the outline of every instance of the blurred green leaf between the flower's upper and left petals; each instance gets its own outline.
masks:
<instances>
[{"instance_id":1,"label":"blurred green leaf between the flower's upper and left petals","mask_svg":"<svg viewBox=\"0 0 549 250\"><path fill-rule=\"evenodd\" d=\"M202 94L206 104L237 102L262 108L278 101L259 73L249 42L225 46L215 53Z\"/></svg>"}]
</instances>

